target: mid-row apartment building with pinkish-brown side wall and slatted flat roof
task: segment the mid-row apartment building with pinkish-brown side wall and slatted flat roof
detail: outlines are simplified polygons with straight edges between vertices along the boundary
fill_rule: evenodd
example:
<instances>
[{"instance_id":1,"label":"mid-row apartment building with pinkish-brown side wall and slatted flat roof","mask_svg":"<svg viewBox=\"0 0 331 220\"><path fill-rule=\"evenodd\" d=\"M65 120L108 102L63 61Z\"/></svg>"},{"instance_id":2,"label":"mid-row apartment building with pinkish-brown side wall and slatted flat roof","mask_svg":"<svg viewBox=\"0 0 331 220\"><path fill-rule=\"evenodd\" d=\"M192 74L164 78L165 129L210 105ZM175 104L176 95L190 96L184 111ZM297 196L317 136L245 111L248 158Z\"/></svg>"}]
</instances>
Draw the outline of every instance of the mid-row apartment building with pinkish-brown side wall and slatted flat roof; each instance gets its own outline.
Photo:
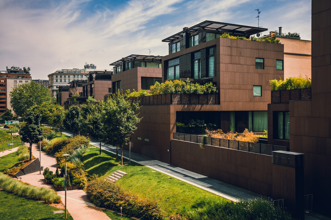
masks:
<instances>
[{"instance_id":1,"label":"mid-row apartment building with pinkish-brown side wall and slatted flat roof","mask_svg":"<svg viewBox=\"0 0 331 220\"><path fill-rule=\"evenodd\" d=\"M118 89L123 92L127 89L149 91L151 85L162 81L161 60L162 56L131 54L109 64L114 66L111 92L116 93Z\"/></svg>"}]
</instances>

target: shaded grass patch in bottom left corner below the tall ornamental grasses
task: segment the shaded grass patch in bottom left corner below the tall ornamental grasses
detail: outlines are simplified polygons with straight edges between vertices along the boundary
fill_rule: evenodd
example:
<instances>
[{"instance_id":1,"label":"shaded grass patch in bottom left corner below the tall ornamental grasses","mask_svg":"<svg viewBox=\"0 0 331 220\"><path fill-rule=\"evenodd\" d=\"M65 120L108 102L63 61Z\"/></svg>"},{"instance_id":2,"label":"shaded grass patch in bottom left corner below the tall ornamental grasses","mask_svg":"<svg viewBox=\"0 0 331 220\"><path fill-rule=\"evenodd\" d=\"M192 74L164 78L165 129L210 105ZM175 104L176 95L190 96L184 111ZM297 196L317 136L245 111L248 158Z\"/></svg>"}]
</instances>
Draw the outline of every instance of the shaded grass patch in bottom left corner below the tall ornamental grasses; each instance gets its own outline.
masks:
<instances>
[{"instance_id":1,"label":"shaded grass patch in bottom left corner below the tall ornamental grasses","mask_svg":"<svg viewBox=\"0 0 331 220\"><path fill-rule=\"evenodd\" d=\"M63 209L0 191L0 219L64 219L64 212L54 214L58 210ZM69 212L67 219L73 219Z\"/></svg>"}]
</instances>

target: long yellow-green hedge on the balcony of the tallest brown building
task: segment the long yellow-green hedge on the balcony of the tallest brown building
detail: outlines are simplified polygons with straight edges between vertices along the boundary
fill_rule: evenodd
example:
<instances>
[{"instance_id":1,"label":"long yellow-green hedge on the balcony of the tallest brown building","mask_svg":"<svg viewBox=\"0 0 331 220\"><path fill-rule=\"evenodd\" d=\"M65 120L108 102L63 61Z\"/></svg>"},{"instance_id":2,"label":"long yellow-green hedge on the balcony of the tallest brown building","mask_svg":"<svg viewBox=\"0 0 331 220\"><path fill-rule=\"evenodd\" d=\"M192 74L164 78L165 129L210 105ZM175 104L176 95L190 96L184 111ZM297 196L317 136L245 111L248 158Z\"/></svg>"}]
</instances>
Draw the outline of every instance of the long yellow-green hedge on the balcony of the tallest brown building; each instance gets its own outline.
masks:
<instances>
[{"instance_id":1,"label":"long yellow-green hedge on the balcony of the tallest brown building","mask_svg":"<svg viewBox=\"0 0 331 220\"><path fill-rule=\"evenodd\" d=\"M212 82L204 85L199 83L191 83L190 80L173 80L165 81L164 83L156 82L150 87L152 95L168 94L168 93L188 93L188 94L217 94L217 88Z\"/></svg>"}]
</instances>

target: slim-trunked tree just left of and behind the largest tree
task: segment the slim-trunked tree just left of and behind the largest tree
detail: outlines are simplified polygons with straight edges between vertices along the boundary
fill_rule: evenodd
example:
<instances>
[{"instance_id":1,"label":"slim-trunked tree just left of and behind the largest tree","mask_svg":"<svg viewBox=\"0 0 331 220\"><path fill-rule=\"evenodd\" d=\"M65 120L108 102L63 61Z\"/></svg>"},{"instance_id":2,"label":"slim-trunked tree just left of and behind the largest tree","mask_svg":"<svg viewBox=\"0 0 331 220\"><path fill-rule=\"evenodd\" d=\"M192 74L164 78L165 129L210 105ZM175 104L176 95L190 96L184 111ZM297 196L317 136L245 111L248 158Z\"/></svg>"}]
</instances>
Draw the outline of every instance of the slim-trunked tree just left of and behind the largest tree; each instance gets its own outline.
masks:
<instances>
[{"instance_id":1,"label":"slim-trunked tree just left of and behind the largest tree","mask_svg":"<svg viewBox=\"0 0 331 220\"><path fill-rule=\"evenodd\" d=\"M91 97L91 96L89 96ZM88 104L82 105L82 116L86 118L84 126L85 131L95 140L100 143L101 155L101 141L103 140L104 133L102 130L101 112L104 107L104 102L98 102L96 105Z\"/></svg>"}]
</instances>

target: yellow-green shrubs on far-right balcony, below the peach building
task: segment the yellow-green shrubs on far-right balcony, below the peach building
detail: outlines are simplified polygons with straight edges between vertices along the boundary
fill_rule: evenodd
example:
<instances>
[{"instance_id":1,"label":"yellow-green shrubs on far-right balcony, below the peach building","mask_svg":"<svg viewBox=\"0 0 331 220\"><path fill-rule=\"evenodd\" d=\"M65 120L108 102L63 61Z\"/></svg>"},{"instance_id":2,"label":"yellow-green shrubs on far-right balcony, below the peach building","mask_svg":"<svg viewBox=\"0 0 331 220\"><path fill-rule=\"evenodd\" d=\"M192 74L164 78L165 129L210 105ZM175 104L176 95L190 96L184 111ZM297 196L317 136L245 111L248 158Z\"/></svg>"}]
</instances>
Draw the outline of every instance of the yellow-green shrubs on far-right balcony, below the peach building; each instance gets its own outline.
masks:
<instances>
[{"instance_id":1,"label":"yellow-green shrubs on far-right balcony, below the peach building","mask_svg":"<svg viewBox=\"0 0 331 220\"><path fill-rule=\"evenodd\" d=\"M308 78L307 75L305 78L300 74L299 77L290 77L286 80L282 80L282 78L280 78L279 80L272 79L269 81L272 91L311 88L311 79Z\"/></svg>"}]
</instances>

